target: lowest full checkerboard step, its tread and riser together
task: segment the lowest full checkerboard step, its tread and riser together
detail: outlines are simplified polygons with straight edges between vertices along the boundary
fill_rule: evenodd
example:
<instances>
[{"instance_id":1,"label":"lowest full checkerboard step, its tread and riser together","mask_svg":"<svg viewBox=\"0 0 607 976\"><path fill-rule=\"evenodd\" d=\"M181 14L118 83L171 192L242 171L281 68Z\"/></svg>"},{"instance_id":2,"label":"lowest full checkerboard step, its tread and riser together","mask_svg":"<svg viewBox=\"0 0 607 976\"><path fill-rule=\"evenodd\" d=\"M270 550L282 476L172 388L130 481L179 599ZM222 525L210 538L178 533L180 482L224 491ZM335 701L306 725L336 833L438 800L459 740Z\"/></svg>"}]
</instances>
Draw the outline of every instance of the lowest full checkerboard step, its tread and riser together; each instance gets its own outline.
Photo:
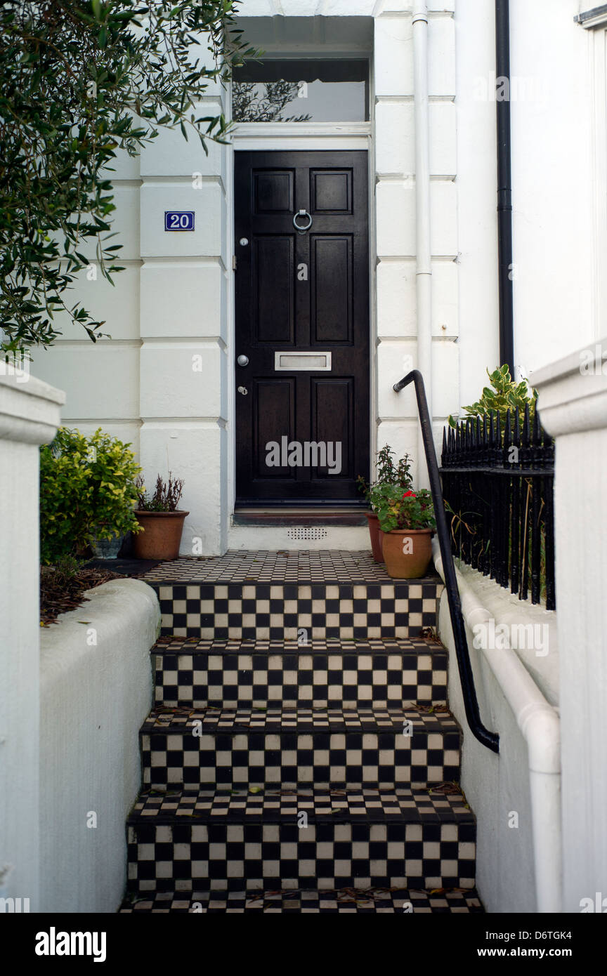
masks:
<instances>
[{"instance_id":1,"label":"lowest full checkerboard step, its tread and riser together","mask_svg":"<svg viewBox=\"0 0 607 976\"><path fill-rule=\"evenodd\" d=\"M472 888L475 823L460 794L143 793L128 819L133 892Z\"/></svg>"}]
</instances>

